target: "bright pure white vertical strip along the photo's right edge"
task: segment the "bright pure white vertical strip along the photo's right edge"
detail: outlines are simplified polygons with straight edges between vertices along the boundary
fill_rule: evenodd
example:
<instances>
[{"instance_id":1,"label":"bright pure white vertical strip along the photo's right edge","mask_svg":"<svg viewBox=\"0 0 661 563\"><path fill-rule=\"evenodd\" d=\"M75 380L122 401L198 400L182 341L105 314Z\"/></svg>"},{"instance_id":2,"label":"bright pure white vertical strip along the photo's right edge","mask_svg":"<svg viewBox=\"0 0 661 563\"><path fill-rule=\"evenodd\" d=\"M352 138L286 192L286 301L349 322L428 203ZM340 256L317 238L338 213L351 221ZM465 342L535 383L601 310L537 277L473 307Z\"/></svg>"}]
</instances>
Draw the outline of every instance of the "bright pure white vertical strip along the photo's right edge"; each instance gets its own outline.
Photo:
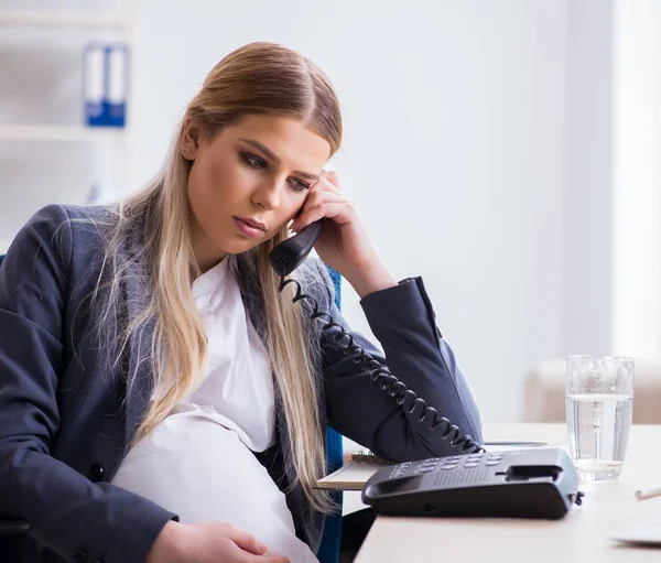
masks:
<instances>
[{"instance_id":1,"label":"bright pure white vertical strip along the photo's right edge","mask_svg":"<svg viewBox=\"0 0 661 563\"><path fill-rule=\"evenodd\" d=\"M616 0L613 340L661 356L661 2Z\"/></svg>"}]
</instances>

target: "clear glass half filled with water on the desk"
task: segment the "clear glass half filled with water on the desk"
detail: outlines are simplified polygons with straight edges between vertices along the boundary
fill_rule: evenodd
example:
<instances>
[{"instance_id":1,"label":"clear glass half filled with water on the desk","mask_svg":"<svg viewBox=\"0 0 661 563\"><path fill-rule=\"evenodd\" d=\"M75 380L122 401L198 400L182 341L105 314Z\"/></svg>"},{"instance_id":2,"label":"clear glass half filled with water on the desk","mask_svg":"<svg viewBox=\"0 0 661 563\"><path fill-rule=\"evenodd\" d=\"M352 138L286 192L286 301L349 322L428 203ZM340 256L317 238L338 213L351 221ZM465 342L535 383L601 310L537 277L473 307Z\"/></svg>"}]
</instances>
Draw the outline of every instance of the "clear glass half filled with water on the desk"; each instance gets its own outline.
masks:
<instances>
[{"instance_id":1,"label":"clear glass half filled with water on the desk","mask_svg":"<svg viewBox=\"0 0 661 563\"><path fill-rule=\"evenodd\" d=\"M565 409L578 478L617 480L633 413L633 358L567 356Z\"/></svg>"}]
</instances>

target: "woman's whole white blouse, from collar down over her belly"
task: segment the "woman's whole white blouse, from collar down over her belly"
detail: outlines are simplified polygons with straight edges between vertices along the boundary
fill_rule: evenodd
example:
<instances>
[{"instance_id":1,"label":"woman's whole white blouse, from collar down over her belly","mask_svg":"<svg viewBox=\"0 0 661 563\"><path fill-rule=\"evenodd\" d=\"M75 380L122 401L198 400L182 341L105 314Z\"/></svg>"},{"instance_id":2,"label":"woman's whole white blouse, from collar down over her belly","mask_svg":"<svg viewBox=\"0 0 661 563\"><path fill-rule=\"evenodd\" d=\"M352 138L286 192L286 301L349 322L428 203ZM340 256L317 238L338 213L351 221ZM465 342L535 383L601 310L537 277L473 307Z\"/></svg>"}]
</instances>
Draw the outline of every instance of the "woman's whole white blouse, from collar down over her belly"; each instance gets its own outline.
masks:
<instances>
[{"instance_id":1,"label":"woman's whole white blouse, from collar down over her belly","mask_svg":"<svg viewBox=\"0 0 661 563\"><path fill-rule=\"evenodd\" d=\"M269 554L316 562L295 535L285 496L252 453L274 442L273 379L230 260L193 282L208 337L202 385L128 452L112 483L183 523L229 522Z\"/></svg>"}]
</instances>

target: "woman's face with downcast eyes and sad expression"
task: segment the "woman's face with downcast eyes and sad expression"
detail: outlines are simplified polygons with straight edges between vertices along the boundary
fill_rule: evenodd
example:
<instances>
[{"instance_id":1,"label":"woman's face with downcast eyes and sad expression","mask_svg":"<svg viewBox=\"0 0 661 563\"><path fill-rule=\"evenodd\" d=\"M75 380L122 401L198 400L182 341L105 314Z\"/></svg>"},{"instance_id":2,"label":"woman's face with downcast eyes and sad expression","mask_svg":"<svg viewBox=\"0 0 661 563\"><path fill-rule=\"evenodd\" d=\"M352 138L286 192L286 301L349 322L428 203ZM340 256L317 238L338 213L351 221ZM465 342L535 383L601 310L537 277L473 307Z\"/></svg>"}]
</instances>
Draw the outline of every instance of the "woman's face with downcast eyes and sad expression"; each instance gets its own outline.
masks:
<instances>
[{"instance_id":1,"label":"woman's face with downcast eyes and sad expression","mask_svg":"<svg viewBox=\"0 0 661 563\"><path fill-rule=\"evenodd\" d=\"M326 140L281 116L246 116L212 139L189 121L181 147L193 161L191 234L203 272L280 231L301 210L330 155Z\"/></svg>"}]
</instances>

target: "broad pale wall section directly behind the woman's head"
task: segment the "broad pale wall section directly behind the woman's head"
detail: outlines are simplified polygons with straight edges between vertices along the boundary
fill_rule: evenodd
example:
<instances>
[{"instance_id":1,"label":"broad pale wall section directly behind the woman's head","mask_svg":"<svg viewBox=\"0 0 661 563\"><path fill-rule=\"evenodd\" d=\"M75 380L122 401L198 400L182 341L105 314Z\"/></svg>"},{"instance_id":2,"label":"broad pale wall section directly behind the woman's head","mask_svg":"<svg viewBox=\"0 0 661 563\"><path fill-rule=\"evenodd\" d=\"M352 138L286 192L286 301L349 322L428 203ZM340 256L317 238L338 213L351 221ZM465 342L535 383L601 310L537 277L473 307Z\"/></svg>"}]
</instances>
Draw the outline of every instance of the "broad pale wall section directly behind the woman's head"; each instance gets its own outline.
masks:
<instances>
[{"instance_id":1,"label":"broad pale wall section directly behind the woman's head","mask_svg":"<svg viewBox=\"0 0 661 563\"><path fill-rule=\"evenodd\" d=\"M269 40L326 71L337 169L397 278L423 275L486 419L562 342L565 2L142 0L134 178L160 165L206 73ZM346 315L366 328L355 294Z\"/></svg>"}]
</instances>

